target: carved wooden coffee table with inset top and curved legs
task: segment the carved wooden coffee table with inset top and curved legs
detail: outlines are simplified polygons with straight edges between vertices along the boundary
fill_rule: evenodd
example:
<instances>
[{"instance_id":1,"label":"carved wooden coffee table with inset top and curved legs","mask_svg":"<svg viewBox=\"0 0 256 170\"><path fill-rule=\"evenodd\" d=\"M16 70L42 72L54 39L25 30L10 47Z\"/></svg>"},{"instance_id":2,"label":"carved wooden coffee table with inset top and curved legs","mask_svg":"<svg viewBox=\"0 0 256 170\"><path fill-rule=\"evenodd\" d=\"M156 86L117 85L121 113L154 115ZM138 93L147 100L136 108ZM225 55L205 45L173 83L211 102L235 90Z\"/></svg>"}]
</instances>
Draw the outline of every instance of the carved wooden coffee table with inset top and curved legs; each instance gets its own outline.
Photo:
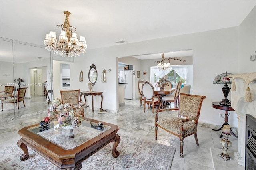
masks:
<instances>
[{"instance_id":1,"label":"carved wooden coffee table with inset top and curved legs","mask_svg":"<svg viewBox=\"0 0 256 170\"><path fill-rule=\"evenodd\" d=\"M20 160L28 159L28 146L59 169L79 170L84 160L112 141L112 156L117 158L119 152L116 147L120 143L120 136L116 134L117 125L102 122L104 128L97 129L99 121L81 118L81 125L73 130L74 138L69 138L69 130L54 130L57 121L52 121L47 130L42 130L39 123L19 130L21 139L17 144L24 152Z\"/></svg>"}]
</instances>

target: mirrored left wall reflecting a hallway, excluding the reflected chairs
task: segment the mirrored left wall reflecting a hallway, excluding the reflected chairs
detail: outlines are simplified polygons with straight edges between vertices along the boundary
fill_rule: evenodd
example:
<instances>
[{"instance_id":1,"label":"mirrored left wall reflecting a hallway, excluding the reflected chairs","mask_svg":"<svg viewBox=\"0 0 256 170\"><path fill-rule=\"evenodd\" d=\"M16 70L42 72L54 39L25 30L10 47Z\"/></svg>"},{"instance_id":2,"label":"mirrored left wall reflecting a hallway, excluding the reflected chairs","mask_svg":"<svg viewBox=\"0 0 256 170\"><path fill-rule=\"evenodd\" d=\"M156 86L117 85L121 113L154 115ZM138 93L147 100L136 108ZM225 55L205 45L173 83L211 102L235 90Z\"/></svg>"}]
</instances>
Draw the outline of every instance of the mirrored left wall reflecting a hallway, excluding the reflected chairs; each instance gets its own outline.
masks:
<instances>
[{"instance_id":1,"label":"mirrored left wall reflecting a hallway, excluding the reflected chairs","mask_svg":"<svg viewBox=\"0 0 256 170\"><path fill-rule=\"evenodd\" d=\"M24 103L26 107L17 104L7 104L3 112L8 116L28 114L38 111L47 111L46 91L52 89L50 75L52 64L50 52L42 45L19 42L0 37L0 82L3 84L0 91L4 91L5 85L14 86L12 95L15 97L19 87L28 87ZM15 82L16 80L16 82ZM52 95L48 94L52 101Z\"/></svg>"}]
</instances>

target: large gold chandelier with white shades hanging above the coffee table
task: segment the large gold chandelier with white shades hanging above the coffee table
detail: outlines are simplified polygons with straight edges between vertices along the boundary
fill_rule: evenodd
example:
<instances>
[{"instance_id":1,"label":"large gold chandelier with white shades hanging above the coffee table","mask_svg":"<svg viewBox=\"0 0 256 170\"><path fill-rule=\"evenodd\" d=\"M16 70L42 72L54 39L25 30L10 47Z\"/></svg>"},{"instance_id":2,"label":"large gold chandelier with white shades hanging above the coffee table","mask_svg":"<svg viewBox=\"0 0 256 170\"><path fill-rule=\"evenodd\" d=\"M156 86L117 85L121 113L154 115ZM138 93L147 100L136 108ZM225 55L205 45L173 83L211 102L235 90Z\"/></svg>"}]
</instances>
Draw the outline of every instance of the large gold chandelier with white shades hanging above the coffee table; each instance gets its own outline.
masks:
<instances>
[{"instance_id":1,"label":"large gold chandelier with white shades hanging above the coffee table","mask_svg":"<svg viewBox=\"0 0 256 170\"><path fill-rule=\"evenodd\" d=\"M64 24L57 25L58 28L61 28L59 42L57 43L56 34L53 31L50 31L49 34L46 34L44 39L45 48L48 51L52 51L55 55L61 55L62 57L76 57L76 55L86 53L87 44L85 38L80 36L78 41L76 28L69 25L68 16L71 14L68 11L64 11L66 15Z\"/></svg>"}]
</instances>

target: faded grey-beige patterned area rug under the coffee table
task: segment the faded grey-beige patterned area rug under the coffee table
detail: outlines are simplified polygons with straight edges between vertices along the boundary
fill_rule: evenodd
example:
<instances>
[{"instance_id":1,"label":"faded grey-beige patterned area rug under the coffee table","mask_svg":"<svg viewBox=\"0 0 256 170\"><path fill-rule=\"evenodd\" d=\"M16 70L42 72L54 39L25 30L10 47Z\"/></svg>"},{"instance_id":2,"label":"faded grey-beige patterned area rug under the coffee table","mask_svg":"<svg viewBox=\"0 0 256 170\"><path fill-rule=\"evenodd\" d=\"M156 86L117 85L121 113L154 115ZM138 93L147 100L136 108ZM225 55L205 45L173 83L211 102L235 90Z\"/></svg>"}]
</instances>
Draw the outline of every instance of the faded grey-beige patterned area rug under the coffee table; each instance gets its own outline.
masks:
<instances>
[{"instance_id":1,"label":"faded grey-beige patterned area rug under the coffee table","mask_svg":"<svg viewBox=\"0 0 256 170\"><path fill-rule=\"evenodd\" d=\"M176 148L120 135L116 150L118 158L112 156L113 142L82 162L81 170L170 170ZM29 159L20 161L23 151L12 144L0 151L1 170L54 170L54 164L28 147Z\"/></svg>"}]
</instances>

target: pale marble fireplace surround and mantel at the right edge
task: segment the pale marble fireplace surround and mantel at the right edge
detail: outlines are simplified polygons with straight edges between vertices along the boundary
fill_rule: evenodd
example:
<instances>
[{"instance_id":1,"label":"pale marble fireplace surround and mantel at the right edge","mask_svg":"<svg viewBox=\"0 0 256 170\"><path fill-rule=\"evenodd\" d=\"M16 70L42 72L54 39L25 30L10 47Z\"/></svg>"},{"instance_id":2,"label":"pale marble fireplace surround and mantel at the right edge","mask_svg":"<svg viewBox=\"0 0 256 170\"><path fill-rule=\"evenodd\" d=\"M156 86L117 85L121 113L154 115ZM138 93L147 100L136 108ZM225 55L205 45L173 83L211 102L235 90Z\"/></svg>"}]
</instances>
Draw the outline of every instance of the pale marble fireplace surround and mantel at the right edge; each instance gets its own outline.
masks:
<instances>
[{"instance_id":1,"label":"pale marble fireplace surround and mantel at the right edge","mask_svg":"<svg viewBox=\"0 0 256 170\"><path fill-rule=\"evenodd\" d=\"M238 119L238 151L235 152L235 159L239 165L245 166L245 115L250 114L256 117L256 72L229 75L234 79L236 91L231 91L231 107L235 110ZM244 102L246 89L249 85L252 102Z\"/></svg>"}]
</instances>

